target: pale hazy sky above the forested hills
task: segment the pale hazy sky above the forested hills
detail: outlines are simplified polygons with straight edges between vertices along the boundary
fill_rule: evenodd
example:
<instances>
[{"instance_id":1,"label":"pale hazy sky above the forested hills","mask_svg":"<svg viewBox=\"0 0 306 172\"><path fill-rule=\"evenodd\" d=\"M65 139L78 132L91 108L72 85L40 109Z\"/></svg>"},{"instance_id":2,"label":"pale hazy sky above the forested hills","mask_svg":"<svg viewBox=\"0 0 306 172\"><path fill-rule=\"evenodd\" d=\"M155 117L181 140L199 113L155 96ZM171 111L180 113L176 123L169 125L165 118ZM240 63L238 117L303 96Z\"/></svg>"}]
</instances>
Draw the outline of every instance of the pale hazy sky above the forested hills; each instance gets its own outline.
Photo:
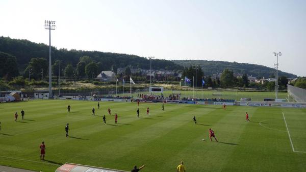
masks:
<instances>
[{"instance_id":1,"label":"pale hazy sky above the forested hills","mask_svg":"<svg viewBox=\"0 0 306 172\"><path fill-rule=\"evenodd\" d=\"M306 76L306 1L0 1L0 35L58 48L236 61Z\"/></svg>"}]
</instances>

